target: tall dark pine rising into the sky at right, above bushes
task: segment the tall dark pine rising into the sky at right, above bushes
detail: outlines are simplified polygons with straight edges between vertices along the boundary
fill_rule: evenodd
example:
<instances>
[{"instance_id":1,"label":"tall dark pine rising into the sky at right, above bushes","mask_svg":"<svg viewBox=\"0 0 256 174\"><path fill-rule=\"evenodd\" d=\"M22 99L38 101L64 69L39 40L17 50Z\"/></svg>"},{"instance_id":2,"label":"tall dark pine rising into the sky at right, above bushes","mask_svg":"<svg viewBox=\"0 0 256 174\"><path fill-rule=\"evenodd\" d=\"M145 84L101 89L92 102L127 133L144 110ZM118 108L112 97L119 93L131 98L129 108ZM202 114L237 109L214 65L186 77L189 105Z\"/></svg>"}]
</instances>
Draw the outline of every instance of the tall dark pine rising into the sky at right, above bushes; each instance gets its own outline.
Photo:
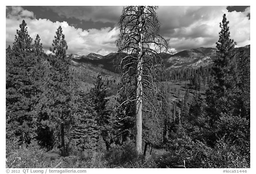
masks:
<instances>
[{"instance_id":1,"label":"tall dark pine rising into the sky at right, above bushes","mask_svg":"<svg viewBox=\"0 0 256 174\"><path fill-rule=\"evenodd\" d=\"M220 113L230 112L232 108L231 103L227 103L229 100L227 97L227 91L232 89L231 79L231 62L234 57L232 52L236 43L233 39L230 39L230 32L228 27L229 21L227 21L226 15L223 15L222 23L220 23L221 31L219 32L219 40L216 43L216 58L213 60L214 66L213 84L206 92L208 103L208 113L211 117L211 123L220 117Z\"/></svg>"}]
</instances>

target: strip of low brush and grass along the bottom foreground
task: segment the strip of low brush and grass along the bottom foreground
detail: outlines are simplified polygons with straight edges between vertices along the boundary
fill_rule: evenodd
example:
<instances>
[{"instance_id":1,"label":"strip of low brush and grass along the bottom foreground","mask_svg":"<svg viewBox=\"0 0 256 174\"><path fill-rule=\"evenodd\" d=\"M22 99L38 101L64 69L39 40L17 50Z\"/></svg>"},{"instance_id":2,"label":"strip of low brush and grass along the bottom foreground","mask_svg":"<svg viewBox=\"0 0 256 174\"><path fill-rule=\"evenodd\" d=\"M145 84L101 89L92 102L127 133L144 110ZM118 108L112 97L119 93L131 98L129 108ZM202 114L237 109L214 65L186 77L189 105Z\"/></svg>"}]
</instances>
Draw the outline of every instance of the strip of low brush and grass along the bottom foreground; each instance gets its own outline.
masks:
<instances>
[{"instance_id":1,"label":"strip of low brush and grass along the bottom foreground","mask_svg":"<svg viewBox=\"0 0 256 174\"><path fill-rule=\"evenodd\" d=\"M45 151L36 142L15 147L7 141L7 168L250 168L246 156L225 137L214 148L185 135L176 137L166 150L153 149L145 158L136 155L130 139L112 144L109 151L71 151L67 157L61 157L58 149Z\"/></svg>"}]
</instances>

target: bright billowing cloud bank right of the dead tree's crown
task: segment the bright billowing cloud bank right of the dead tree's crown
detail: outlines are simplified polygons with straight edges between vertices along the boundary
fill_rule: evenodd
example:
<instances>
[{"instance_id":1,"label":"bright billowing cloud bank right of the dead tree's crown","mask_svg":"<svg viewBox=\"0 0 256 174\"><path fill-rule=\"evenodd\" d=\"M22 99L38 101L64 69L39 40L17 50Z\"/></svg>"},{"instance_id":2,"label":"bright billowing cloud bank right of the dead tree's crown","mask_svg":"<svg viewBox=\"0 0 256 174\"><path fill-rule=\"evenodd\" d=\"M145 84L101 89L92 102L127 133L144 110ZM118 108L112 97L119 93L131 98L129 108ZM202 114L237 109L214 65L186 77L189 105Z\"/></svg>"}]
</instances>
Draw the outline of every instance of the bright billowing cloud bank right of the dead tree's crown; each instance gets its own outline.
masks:
<instances>
[{"instance_id":1,"label":"bright billowing cloud bank right of the dead tree's crown","mask_svg":"<svg viewBox=\"0 0 256 174\"><path fill-rule=\"evenodd\" d=\"M231 38L237 46L250 44L250 20L247 16L250 8L244 12L228 12L226 6L160 6L160 32L177 51L216 47L219 23L224 13L230 21Z\"/></svg>"}]
</instances>

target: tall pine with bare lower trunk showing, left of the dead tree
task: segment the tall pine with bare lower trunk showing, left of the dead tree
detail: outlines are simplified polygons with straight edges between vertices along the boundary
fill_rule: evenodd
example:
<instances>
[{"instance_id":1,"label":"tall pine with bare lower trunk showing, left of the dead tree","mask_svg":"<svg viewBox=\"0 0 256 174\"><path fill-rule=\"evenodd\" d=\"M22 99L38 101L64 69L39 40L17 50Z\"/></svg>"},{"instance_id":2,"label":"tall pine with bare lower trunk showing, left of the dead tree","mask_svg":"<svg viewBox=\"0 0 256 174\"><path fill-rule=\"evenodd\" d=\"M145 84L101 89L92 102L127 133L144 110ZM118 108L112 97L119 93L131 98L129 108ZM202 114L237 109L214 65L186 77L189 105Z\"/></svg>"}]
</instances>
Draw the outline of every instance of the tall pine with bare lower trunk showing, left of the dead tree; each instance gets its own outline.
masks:
<instances>
[{"instance_id":1,"label":"tall pine with bare lower trunk showing, left of the dead tree","mask_svg":"<svg viewBox=\"0 0 256 174\"><path fill-rule=\"evenodd\" d=\"M56 129L57 137L60 138L61 154L67 155L65 147L65 130L74 121L76 105L74 103L74 84L72 82L71 59L66 56L68 49L65 36L62 33L61 26L57 29L52 43L53 55L51 55L50 73L48 75L48 125Z\"/></svg>"}]
</instances>

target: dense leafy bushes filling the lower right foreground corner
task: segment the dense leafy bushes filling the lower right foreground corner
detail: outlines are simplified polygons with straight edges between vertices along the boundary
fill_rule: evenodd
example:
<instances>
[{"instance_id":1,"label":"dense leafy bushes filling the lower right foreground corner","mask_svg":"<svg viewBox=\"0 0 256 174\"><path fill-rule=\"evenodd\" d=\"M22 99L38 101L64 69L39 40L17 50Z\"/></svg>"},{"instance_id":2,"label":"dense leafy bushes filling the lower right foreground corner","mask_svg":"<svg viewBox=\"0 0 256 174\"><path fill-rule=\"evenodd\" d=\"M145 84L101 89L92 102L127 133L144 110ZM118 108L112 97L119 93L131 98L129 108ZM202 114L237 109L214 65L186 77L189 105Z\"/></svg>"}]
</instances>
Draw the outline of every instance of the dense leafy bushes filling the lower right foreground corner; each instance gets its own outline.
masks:
<instances>
[{"instance_id":1,"label":"dense leafy bushes filling the lower right foreground corner","mask_svg":"<svg viewBox=\"0 0 256 174\"><path fill-rule=\"evenodd\" d=\"M176 168L250 168L250 161L227 139L217 141L211 148L189 137L174 139L169 144L169 154L162 156L158 167Z\"/></svg>"}]
</instances>

